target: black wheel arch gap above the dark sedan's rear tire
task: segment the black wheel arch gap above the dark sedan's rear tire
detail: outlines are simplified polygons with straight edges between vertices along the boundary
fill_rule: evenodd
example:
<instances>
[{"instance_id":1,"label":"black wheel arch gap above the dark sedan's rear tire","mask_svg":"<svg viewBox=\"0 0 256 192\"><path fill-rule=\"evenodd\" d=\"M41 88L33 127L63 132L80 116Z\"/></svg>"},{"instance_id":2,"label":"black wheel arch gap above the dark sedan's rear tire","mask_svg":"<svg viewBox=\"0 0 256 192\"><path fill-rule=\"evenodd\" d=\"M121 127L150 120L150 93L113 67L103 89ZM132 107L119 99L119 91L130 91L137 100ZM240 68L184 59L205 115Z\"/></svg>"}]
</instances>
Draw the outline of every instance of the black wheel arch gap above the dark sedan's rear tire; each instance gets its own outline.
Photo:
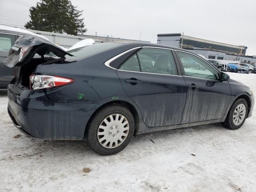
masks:
<instances>
[{"instance_id":1,"label":"black wheel arch gap above the dark sedan's rear tire","mask_svg":"<svg viewBox=\"0 0 256 192\"><path fill-rule=\"evenodd\" d=\"M139 130L140 116L139 116L139 113L136 110L136 108L131 103L124 101L124 100L115 100L115 101L106 102L106 103L102 104L99 108L97 108L93 112L93 114L91 115L90 119L88 120L88 122L86 124L85 130L84 130L84 135L86 134L88 127L90 126L90 122L92 122L92 119L97 114L97 112L99 110L101 110L102 108L105 108L106 106L112 106L112 105L124 106L124 107L128 108L128 110L130 110L130 112L132 113L132 116L134 117L134 122L135 122L134 136L136 136L137 131Z\"/></svg>"}]
</instances>

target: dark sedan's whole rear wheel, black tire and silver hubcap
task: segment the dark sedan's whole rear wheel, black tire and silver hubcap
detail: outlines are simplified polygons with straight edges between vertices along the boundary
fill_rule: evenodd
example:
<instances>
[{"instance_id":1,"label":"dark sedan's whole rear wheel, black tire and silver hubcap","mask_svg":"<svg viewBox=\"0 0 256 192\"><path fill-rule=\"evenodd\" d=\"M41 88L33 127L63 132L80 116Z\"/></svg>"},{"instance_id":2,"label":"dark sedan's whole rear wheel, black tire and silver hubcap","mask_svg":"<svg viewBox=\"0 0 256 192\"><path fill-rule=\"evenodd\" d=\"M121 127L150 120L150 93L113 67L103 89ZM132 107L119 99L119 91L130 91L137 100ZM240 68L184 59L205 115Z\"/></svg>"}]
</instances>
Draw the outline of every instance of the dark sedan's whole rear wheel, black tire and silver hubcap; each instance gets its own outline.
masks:
<instances>
[{"instance_id":1,"label":"dark sedan's whole rear wheel, black tire and silver hubcap","mask_svg":"<svg viewBox=\"0 0 256 192\"><path fill-rule=\"evenodd\" d=\"M94 116L88 126L86 142L100 155L122 151L134 133L134 118L123 106L107 106Z\"/></svg>"}]
</instances>

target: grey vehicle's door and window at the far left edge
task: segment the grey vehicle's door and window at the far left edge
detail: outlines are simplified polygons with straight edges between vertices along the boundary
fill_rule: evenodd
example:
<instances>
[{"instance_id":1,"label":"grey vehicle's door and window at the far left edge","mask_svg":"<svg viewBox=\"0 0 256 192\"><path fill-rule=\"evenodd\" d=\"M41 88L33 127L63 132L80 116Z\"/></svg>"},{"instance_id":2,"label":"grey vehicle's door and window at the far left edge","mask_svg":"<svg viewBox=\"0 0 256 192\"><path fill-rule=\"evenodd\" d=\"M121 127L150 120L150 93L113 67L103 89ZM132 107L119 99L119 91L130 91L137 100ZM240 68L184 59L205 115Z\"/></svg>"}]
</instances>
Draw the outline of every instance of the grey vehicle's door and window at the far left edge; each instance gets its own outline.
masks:
<instances>
[{"instance_id":1,"label":"grey vehicle's door and window at the far left edge","mask_svg":"<svg viewBox=\"0 0 256 192\"><path fill-rule=\"evenodd\" d=\"M14 77L14 68L4 65L9 49L14 44L17 35L0 32L0 88L6 88Z\"/></svg>"}]
</instances>

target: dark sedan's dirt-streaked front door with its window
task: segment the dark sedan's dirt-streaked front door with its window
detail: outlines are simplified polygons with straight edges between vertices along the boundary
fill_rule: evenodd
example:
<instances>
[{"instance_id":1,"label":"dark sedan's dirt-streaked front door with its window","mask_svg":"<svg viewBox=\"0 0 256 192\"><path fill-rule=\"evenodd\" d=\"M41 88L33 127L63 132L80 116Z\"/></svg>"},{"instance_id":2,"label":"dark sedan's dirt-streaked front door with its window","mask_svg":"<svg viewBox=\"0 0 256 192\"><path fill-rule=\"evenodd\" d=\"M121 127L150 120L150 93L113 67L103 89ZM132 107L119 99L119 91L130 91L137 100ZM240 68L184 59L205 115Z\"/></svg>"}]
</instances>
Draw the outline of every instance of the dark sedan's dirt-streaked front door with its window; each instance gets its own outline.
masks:
<instances>
[{"instance_id":1,"label":"dark sedan's dirt-streaked front door with its window","mask_svg":"<svg viewBox=\"0 0 256 192\"><path fill-rule=\"evenodd\" d=\"M181 67L183 60L193 60L204 68L184 68L182 72L188 86L182 123L192 123L223 118L230 103L231 90L228 82L220 82L219 72L200 57L176 51Z\"/></svg>"}]
</instances>

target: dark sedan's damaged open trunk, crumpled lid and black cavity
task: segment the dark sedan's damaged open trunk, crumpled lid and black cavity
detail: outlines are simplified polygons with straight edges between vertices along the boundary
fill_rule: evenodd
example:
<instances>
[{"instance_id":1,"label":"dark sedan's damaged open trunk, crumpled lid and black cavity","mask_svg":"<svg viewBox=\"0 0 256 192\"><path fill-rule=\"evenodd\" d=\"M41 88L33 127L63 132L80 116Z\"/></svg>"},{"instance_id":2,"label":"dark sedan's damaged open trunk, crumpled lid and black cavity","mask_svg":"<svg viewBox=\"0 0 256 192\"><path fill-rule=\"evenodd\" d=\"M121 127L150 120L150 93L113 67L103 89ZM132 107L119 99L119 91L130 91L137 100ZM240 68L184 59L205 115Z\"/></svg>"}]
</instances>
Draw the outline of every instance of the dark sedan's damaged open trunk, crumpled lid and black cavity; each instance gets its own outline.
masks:
<instances>
[{"instance_id":1,"label":"dark sedan's damaged open trunk, crumpled lid and black cavity","mask_svg":"<svg viewBox=\"0 0 256 192\"><path fill-rule=\"evenodd\" d=\"M30 75L39 64L63 63L65 55L72 56L60 46L37 36L21 36L9 50L4 64L16 67L14 80L20 88L30 88Z\"/></svg>"}]
</instances>

